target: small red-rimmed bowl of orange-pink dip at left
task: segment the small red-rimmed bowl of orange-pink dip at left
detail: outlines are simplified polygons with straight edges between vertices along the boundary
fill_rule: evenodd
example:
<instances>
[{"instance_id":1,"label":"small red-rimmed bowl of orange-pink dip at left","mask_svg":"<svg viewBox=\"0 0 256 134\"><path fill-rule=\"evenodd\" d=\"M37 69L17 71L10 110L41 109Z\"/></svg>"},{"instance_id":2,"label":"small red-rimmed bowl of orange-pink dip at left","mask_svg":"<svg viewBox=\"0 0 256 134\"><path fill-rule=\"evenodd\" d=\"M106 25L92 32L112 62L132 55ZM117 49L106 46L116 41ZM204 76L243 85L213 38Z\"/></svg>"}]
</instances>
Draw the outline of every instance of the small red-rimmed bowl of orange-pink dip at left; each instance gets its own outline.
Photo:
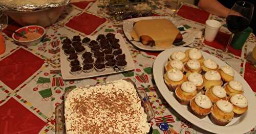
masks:
<instances>
[{"instance_id":1,"label":"small red-rimmed bowl of orange-pink dip at left","mask_svg":"<svg viewBox=\"0 0 256 134\"><path fill-rule=\"evenodd\" d=\"M44 38L46 34L46 30L39 25L24 26L23 28L20 28L15 32L20 33L27 37L26 39L23 37L19 37L14 33L12 34L12 38L15 42L25 46L37 45L42 40L42 38Z\"/></svg>"}]
</instances>

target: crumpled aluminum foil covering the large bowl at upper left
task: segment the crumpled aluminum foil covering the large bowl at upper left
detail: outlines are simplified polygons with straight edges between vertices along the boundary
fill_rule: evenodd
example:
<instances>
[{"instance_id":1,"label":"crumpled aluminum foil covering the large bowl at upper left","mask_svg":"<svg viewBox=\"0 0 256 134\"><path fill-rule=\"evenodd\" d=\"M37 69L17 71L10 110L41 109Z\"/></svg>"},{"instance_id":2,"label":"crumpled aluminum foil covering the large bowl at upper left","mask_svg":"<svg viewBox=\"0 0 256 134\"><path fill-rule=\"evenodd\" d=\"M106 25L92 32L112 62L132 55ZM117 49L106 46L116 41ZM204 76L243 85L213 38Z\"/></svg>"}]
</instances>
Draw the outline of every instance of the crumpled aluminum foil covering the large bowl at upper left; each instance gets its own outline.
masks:
<instances>
[{"instance_id":1,"label":"crumpled aluminum foil covering the large bowl at upper left","mask_svg":"<svg viewBox=\"0 0 256 134\"><path fill-rule=\"evenodd\" d=\"M0 0L0 11L33 11L68 5L70 0Z\"/></svg>"}]
</instances>

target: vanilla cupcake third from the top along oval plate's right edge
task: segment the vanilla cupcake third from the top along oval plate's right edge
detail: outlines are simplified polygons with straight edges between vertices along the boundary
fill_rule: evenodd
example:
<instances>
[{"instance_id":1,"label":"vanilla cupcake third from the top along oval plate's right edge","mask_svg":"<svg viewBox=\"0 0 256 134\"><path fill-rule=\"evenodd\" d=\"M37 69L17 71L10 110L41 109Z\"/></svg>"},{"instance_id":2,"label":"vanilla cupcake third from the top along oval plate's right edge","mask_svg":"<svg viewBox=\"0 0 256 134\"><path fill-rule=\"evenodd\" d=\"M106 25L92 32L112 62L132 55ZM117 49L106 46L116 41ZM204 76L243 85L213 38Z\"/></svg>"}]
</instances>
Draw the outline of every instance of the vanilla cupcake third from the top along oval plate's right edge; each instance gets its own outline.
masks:
<instances>
[{"instance_id":1,"label":"vanilla cupcake third from the top along oval plate's right edge","mask_svg":"<svg viewBox=\"0 0 256 134\"><path fill-rule=\"evenodd\" d=\"M224 82L230 82L234 79L234 70L230 66L222 66L218 69L218 72L221 74L221 79Z\"/></svg>"}]
</instances>

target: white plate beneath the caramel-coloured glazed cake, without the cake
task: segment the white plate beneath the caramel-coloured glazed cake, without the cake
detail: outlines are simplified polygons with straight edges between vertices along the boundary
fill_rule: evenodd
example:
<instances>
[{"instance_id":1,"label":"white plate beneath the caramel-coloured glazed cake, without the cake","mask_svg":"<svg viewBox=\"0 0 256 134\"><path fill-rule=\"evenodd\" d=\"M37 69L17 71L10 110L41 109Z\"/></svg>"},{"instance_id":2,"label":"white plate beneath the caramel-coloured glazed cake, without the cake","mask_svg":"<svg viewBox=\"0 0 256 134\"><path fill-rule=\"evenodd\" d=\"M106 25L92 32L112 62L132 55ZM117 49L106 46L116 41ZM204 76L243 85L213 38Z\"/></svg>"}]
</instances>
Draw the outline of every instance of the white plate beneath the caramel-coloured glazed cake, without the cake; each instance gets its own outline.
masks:
<instances>
[{"instance_id":1,"label":"white plate beneath the caramel-coloured glazed cake, without the cake","mask_svg":"<svg viewBox=\"0 0 256 134\"><path fill-rule=\"evenodd\" d=\"M175 46L175 45L172 45L172 46L169 46L169 47L148 46L148 45L143 45L141 42L133 40L133 38L132 38L130 33L133 30L133 23L134 22L137 22L139 20L161 19L161 18L166 18L166 19L172 21L173 24L176 25L177 27L180 26L178 21L176 21L173 17L169 17L169 16L150 16L150 17L132 18L132 19L126 19L126 20L123 21L123 32L124 32L124 35L126 36L126 38L130 42L132 42L132 44L134 44L138 48L143 49L143 50L150 50L150 51L161 51L161 50L166 50L166 49L173 48L173 47L187 46L187 45L189 45L189 44L194 42L195 35L189 34L189 33L183 34L184 32L181 32L181 34L183 34L182 35L183 41L186 42L186 43L183 44L183 45L179 45L179 46Z\"/></svg>"}]
</instances>

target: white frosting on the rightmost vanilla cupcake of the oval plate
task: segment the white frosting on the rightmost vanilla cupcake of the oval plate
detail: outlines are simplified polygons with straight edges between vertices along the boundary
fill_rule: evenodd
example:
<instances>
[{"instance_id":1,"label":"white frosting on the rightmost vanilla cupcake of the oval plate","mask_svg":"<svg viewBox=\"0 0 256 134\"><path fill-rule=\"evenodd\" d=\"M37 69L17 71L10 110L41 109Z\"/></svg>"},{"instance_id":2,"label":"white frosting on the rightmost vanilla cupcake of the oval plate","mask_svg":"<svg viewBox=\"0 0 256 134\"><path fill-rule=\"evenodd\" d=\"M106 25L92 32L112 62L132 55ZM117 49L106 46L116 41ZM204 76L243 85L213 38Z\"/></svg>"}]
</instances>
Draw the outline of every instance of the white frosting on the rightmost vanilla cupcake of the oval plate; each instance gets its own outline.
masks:
<instances>
[{"instance_id":1,"label":"white frosting on the rightmost vanilla cupcake of the oval plate","mask_svg":"<svg viewBox=\"0 0 256 134\"><path fill-rule=\"evenodd\" d=\"M233 105L238 106L239 108L246 108L246 106L248 105L247 99L242 94L232 95L230 98L230 102Z\"/></svg>"}]
</instances>

